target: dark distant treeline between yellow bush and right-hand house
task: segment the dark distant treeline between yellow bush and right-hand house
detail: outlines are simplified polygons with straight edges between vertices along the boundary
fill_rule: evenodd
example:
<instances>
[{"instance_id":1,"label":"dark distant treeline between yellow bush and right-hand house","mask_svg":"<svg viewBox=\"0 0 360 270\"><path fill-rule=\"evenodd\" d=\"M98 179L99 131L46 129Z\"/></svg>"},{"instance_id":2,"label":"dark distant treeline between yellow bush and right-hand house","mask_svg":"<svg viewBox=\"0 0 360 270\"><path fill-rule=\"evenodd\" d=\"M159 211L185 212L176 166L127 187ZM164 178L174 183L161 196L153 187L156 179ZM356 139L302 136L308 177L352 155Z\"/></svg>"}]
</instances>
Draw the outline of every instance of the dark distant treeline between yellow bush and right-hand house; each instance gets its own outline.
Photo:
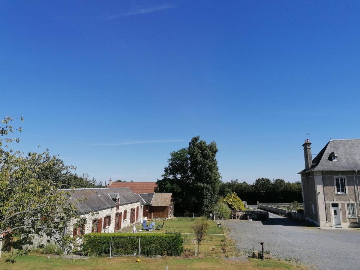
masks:
<instances>
[{"instance_id":1,"label":"dark distant treeline between yellow bush and right-hand house","mask_svg":"<svg viewBox=\"0 0 360 270\"><path fill-rule=\"evenodd\" d=\"M274 182L268 178L258 178L250 185L246 182L231 180L221 182L219 195L225 196L229 192L235 192L240 199L248 204L259 202L290 203L293 201L302 202L301 183L285 182L283 179L276 179Z\"/></svg>"}]
</instances>

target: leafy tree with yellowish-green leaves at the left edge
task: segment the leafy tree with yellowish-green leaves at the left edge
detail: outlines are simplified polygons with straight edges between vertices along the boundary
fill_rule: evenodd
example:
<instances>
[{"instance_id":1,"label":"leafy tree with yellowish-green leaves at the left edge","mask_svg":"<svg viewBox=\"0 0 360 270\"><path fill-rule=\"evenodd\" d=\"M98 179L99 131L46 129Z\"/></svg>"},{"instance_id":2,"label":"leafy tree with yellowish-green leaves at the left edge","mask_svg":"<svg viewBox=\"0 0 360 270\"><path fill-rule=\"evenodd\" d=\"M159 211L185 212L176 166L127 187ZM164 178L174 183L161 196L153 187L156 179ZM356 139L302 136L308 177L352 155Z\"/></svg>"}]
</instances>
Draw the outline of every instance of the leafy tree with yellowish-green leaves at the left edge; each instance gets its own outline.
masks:
<instances>
[{"instance_id":1,"label":"leafy tree with yellowish-green leaves at the left edge","mask_svg":"<svg viewBox=\"0 0 360 270\"><path fill-rule=\"evenodd\" d=\"M6 121L11 120L5 118L3 121L8 125ZM75 203L69 202L71 192L59 190L60 172L67 175L71 168L59 162L58 157L50 156L48 150L23 155L0 148L2 250L8 249L7 244L11 243L18 250L17 254L26 254L23 247L32 245L35 235L52 238L67 253L77 247L76 239L65 234L64 230L70 220L75 219L78 224L85 220L79 217ZM9 256L5 261L14 262L14 257Z\"/></svg>"}]
</instances>

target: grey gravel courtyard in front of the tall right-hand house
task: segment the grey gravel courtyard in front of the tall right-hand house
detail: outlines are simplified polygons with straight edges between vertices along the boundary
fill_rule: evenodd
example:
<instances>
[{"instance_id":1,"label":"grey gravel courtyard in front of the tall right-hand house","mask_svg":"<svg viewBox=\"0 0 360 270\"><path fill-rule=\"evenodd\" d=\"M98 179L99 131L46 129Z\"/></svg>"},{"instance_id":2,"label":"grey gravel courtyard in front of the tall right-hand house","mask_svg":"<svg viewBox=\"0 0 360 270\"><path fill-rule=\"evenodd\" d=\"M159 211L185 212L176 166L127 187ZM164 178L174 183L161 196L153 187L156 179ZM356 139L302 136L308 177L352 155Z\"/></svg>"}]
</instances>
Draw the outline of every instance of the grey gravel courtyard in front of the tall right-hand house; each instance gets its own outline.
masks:
<instances>
[{"instance_id":1,"label":"grey gravel courtyard in front of the tall right-hand house","mask_svg":"<svg viewBox=\"0 0 360 270\"><path fill-rule=\"evenodd\" d=\"M315 269L360 269L360 231L304 227L297 221L270 214L269 221L222 221L229 237L242 249L270 250L273 256L299 261Z\"/></svg>"}]
</instances>

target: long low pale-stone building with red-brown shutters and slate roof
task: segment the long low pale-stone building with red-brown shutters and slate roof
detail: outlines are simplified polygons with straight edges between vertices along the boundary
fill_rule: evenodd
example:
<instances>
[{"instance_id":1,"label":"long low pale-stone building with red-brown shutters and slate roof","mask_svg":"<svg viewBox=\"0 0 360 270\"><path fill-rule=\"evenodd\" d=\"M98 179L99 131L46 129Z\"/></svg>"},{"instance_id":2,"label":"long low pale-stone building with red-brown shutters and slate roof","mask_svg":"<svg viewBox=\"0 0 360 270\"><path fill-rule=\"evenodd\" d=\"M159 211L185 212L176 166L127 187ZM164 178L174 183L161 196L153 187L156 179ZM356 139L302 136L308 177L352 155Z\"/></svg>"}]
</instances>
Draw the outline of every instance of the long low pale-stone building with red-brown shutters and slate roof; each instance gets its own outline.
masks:
<instances>
[{"instance_id":1,"label":"long low pale-stone building with red-brown shutters and slate roof","mask_svg":"<svg viewBox=\"0 0 360 270\"><path fill-rule=\"evenodd\" d=\"M76 220L72 220L65 229L65 234L76 236L88 233L114 233L142 222L145 202L139 194L135 194L129 188L88 188L67 191L71 192L70 202L75 202L84 196L87 198L84 202L76 203L78 213L81 217L86 217L86 222L75 228ZM46 237L36 237L33 246L45 244L47 240ZM82 241L80 237L79 241Z\"/></svg>"}]
</instances>

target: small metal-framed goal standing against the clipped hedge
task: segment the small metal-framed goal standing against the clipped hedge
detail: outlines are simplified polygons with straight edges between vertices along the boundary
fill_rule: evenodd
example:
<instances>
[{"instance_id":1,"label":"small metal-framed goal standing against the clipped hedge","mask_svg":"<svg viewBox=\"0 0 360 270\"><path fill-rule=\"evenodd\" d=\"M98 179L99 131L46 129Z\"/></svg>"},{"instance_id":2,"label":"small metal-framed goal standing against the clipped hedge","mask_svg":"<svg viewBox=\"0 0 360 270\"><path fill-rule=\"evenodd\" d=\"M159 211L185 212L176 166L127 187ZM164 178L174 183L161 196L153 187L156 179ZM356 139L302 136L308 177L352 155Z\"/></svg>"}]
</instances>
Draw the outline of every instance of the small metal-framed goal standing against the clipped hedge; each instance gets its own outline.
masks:
<instances>
[{"instance_id":1,"label":"small metal-framed goal standing against the clipped hedge","mask_svg":"<svg viewBox=\"0 0 360 270\"><path fill-rule=\"evenodd\" d=\"M115 256L141 257L140 237L118 236L110 238L110 258Z\"/></svg>"}]
</instances>

